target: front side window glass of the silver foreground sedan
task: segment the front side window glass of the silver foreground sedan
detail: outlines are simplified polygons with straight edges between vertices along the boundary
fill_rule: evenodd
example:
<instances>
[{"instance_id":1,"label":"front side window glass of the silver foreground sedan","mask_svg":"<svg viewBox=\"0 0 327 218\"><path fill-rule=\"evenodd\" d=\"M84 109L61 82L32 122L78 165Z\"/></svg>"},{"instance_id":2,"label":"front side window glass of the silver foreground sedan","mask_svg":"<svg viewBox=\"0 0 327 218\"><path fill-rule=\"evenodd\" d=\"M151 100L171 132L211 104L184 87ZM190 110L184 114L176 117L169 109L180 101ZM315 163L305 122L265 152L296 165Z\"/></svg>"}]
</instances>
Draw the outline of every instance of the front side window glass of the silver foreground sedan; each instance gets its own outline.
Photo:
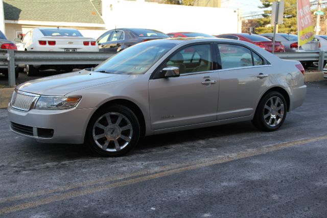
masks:
<instances>
[{"instance_id":1,"label":"front side window glass of the silver foreground sedan","mask_svg":"<svg viewBox=\"0 0 327 218\"><path fill-rule=\"evenodd\" d=\"M209 44L195 45L183 48L168 61L167 67L178 67L179 74L211 71L213 61Z\"/></svg>"}]
</instances>

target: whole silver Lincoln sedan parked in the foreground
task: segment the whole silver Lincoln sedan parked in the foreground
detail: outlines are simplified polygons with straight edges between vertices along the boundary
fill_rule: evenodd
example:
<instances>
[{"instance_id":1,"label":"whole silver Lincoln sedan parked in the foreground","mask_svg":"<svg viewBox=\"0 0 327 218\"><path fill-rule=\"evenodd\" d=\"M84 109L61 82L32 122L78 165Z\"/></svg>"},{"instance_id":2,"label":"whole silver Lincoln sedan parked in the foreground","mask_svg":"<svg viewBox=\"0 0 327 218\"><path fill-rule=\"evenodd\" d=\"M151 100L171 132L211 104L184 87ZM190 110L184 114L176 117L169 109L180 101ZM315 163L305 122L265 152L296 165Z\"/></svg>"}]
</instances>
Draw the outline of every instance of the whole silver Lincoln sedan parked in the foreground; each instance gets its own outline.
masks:
<instances>
[{"instance_id":1,"label":"whole silver Lincoln sedan parked in the foreground","mask_svg":"<svg viewBox=\"0 0 327 218\"><path fill-rule=\"evenodd\" d=\"M304 70L245 41L151 40L95 69L28 81L8 106L13 132L40 142L86 143L103 156L139 137L252 120L281 127L305 99Z\"/></svg>"}]
</instances>

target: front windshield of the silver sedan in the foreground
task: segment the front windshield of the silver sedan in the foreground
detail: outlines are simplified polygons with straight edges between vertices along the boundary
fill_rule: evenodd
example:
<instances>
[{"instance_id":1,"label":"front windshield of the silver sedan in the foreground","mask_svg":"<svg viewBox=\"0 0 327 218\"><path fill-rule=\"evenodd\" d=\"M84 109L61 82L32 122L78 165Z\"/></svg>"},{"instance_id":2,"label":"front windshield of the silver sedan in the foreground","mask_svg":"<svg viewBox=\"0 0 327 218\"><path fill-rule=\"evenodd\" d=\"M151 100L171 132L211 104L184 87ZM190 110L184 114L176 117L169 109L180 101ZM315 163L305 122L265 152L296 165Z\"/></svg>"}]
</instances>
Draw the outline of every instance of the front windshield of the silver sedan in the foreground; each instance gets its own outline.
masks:
<instances>
[{"instance_id":1,"label":"front windshield of the silver sedan in the foreground","mask_svg":"<svg viewBox=\"0 0 327 218\"><path fill-rule=\"evenodd\" d=\"M139 43L110 57L94 71L113 74L144 74L152 65L176 43L148 41Z\"/></svg>"}]
</instances>

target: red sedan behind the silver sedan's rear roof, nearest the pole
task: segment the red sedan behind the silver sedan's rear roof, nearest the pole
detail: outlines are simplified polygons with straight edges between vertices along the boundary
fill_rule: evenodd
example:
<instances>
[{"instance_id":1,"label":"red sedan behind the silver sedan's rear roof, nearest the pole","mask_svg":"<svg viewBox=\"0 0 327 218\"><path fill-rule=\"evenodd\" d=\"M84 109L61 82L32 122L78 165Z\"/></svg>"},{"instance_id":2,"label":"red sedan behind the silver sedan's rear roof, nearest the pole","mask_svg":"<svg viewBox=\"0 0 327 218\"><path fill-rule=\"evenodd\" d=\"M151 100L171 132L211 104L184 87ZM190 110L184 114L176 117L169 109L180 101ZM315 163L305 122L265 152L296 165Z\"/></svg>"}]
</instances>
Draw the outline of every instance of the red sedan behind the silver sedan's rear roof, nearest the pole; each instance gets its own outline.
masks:
<instances>
[{"instance_id":1,"label":"red sedan behind the silver sedan's rear roof, nearest the pole","mask_svg":"<svg viewBox=\"0 0 327 218\"><path fill-rule=\"evenodd\" d=\"M272 40L258 34L236 33L216 35L217 38L228 38L250 42L268 52L272 52ZM284 45L280 41L275 41L274 52L285 52Z\"/></svg>"}]
</instances>

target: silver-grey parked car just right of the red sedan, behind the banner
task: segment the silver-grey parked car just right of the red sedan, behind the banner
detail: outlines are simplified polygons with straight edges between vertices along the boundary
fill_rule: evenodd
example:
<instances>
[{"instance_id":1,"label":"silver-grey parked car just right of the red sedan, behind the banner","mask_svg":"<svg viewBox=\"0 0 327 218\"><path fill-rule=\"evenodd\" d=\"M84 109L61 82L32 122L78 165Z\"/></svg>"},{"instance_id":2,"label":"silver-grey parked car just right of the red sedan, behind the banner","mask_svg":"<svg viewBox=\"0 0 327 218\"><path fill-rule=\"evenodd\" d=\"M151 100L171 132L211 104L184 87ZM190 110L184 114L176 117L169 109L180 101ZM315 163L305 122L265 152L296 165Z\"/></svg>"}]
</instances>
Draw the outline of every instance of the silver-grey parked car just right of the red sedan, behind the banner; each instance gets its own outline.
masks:
<instances>
[{"instance_id":1,"label":"silver-grey parked car just right of the red sedan, behind the banner","mask_svg":"<svg viewBox=\"0 0 327 218\"><path fill-rule=\"evenodd\" d=\"M260 34L272 40L273 33ZM305 45L297 48L297 35L287 33L276 33L276 41L281 41L285 47L285 52L301 52L301 51L316 51L319 50L320 45L317 41L309 41Z\"/></svg>"}]
</instances>

